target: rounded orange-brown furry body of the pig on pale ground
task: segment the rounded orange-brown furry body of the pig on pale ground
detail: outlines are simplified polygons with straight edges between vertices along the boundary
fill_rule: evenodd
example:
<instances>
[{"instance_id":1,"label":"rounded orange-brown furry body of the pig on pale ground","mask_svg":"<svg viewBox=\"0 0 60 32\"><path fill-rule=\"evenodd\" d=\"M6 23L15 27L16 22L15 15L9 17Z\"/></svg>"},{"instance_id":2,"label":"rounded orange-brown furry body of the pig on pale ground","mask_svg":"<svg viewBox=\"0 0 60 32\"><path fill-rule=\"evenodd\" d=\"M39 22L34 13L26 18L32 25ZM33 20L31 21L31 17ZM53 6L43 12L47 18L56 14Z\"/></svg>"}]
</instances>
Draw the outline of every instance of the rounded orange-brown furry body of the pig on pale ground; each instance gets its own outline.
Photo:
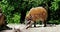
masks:
<instances>
[{"instance_id":1,"label":"rounded orange-brown furry body of the pig on pale ground","mask_svg":"<svg viewBox=\"0 0 60 32\"><path fill-rule=\"evenodd\" d=\"M26 15L26 20L31 20L33 22L36 22L36 20L40 20L44 23L46 26L46 20L48 17L48 13L45 8L43 7L35 7L30 9L29 13Z\"/></svg>"}]
</instances>

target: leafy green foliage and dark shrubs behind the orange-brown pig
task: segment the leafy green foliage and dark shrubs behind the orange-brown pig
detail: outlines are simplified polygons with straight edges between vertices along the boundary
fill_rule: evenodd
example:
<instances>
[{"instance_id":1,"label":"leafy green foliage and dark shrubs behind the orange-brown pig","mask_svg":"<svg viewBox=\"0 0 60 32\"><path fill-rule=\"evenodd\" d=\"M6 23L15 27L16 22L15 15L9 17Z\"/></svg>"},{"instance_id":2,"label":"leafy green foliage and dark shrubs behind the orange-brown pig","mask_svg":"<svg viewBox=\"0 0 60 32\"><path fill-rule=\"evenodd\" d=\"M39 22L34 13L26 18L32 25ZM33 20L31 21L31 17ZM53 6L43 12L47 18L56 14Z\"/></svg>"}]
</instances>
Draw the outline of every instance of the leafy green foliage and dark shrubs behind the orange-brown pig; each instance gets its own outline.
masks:
<instances>
[{"instance_id":1,"label":"leafy green foliage and dark shrubs behind the orange-brown pig","mask_svg":"<svg viewBox=\"0 0 60 32\"><path fill-rule=\"evenodd\" d=\"M8 23L23 23L27 11L43 6L48 11L48 23L60 24L60 0L0 0L0 8Z\"/></svg>"}]
</instances>

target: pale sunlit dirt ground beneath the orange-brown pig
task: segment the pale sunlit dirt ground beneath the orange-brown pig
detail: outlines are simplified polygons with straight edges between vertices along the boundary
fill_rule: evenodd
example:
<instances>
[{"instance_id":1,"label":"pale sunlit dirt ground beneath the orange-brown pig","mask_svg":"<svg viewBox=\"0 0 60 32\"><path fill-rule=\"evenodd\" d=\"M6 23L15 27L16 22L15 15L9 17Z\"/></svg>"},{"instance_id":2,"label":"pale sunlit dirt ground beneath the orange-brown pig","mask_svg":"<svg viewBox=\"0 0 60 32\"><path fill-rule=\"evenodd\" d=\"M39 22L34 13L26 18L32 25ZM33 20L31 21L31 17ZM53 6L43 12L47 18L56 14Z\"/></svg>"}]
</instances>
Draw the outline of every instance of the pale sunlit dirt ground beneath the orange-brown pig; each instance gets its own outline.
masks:
<instances>
[{"instance_id":1,"label":"pale sunlit dirt ground beneath the orange-brown pig","mask_svg":"<svg viewBox=\"0 0 60 32\"><path fill-rule=\"evenodd\" d=\"M8 24L7 26L20 29L22 32L60 32L60 25L47 25L47 27L42 27L43 25L37 25L37 27L32 26L32 28L28 29L25 29L24 24Z\"/></svg>"}]
</instances>

